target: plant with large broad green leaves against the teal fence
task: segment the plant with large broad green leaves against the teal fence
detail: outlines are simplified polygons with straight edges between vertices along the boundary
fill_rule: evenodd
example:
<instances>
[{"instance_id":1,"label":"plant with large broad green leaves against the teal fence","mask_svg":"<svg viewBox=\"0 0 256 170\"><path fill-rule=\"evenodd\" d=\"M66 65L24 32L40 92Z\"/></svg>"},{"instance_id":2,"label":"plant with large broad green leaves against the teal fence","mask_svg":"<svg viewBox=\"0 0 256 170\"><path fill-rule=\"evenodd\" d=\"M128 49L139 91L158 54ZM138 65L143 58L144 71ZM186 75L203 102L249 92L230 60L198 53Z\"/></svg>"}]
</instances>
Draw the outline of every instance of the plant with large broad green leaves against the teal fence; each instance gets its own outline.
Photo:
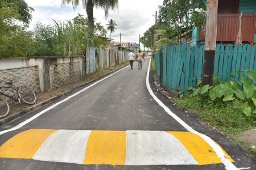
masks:
<instances>
[{"instance_id":1,"label":"plant with large broad green leaves against the teal fence","mask_svg":"<svg viewBox=\"0 0 256 170\"><path fill-rule=\"evenodd\" d=\"M241 80L234 82L218 82L201 87L201 82L196 88L190 87L192 96L209 96L210 100L218 103L233 102L233 107L240 109L247 117L256 118L256 73L252 70L244 70L237 72L238 74L245 72L245 76L241 76ZM235 75L229 73L230 78L236 78Z\"/></svg>"}]
</instances>

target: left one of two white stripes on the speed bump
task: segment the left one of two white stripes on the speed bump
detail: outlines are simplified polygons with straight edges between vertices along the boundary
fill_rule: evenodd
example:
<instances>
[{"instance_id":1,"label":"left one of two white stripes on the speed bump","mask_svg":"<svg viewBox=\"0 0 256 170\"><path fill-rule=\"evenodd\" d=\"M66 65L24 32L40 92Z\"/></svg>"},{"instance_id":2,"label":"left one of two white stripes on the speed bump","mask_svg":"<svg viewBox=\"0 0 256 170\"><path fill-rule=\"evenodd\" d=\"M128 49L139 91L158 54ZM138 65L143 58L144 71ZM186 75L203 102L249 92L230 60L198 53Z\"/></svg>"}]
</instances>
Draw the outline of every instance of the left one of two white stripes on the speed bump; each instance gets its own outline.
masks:
<instances>
[{"instance_id":1,"label":"left one of two white stripes on the speed bump","mask_svg":"<svg viewBox=\"0 0 256 170\"><path fill-rule=\"evenodd\" d=\"M83 164L91 130L59 130L49 136L32 159Z\"/></svg>"}]
</instances>

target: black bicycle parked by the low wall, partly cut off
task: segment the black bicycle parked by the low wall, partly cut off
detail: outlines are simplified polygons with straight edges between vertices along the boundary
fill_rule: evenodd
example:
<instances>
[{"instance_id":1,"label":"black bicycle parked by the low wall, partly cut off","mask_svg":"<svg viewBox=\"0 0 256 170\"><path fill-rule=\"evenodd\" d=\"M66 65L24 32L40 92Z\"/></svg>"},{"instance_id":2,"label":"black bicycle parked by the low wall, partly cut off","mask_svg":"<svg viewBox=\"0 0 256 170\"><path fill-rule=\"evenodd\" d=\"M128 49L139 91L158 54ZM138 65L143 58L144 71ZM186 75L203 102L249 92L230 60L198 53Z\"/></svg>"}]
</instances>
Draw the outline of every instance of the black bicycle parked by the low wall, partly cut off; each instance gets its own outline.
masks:
<instances>
[{"instance_id":1,"label":"black bicycle parked by the low wall, partly cut off","mask_svg":"<svg viewBox=\"0 0 256 170\"><path fill-rule=\"evenodd\" d=\"M22 101L26 104L35 104L36 103L36 95L35 92L31 90L31 88L27 86L19 86L14 87L13 86L13 80L10 80L9 82L5 82L5 87L0 87L0 89L10 89L13 92L13 96L7 95L4 92L0 91L0 95L4 95L6 97L9 97L10 99L14 101L18 101L19 104L22 103ZM15 95L16 91L16 95ZM10 105L8 102L0 96L0 118L6 117L10 112Z\"/></svg>"}]
</instances>

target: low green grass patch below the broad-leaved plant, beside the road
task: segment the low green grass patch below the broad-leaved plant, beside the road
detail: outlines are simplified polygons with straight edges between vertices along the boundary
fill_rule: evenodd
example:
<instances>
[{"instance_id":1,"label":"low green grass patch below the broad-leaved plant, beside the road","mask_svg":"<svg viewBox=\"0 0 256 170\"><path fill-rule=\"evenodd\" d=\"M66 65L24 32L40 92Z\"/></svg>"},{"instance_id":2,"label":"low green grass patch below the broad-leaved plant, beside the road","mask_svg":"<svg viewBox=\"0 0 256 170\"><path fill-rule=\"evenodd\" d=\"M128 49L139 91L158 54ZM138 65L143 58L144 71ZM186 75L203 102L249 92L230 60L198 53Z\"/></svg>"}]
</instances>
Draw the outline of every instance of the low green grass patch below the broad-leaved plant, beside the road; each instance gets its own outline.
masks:
<instances>
[{"instance_id":1,"label":"low green grass patch below the broad-leaved plant, beside the road","mask_svg":"<svg viewBox=\"0 0 256 170\"><path fill-rule=\"evenodd\" d=\"M212 101L207 97L184 95L176 99L176 103L182 109L196 111L204 121L226 134L236 134L255 125L253 120L229 102L223 103L218 100Z\"/></svg>"}]
</instances>

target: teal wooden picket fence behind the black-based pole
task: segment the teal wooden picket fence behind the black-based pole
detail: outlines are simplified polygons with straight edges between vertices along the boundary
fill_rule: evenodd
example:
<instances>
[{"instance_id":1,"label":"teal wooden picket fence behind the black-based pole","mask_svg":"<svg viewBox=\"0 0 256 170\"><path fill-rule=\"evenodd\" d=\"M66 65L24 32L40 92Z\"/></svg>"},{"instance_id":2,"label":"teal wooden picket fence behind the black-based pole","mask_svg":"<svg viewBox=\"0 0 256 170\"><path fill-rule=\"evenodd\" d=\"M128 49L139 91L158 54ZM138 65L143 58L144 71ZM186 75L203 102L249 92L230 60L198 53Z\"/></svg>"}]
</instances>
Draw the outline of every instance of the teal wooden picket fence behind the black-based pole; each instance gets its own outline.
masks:
<instances>
[{"instance_id":1,"label":"teal wooden picket fence behind the black-based pole","mask_svg":"<svg viewBox=\"0 0 256 170\"><path fill-rule=\"evenodd\" d=\"M239 80L236 71L251 69L256 71L256 45L217 45L214 62L214 74L218 80L226 82ZM156 74L163 87L187 92L188 87L195 87L203 73L204 45L189 46L177 44L167 46L155 54ZM236 75L230 78L228 73Z\"/></svg>"}]
</instances>

